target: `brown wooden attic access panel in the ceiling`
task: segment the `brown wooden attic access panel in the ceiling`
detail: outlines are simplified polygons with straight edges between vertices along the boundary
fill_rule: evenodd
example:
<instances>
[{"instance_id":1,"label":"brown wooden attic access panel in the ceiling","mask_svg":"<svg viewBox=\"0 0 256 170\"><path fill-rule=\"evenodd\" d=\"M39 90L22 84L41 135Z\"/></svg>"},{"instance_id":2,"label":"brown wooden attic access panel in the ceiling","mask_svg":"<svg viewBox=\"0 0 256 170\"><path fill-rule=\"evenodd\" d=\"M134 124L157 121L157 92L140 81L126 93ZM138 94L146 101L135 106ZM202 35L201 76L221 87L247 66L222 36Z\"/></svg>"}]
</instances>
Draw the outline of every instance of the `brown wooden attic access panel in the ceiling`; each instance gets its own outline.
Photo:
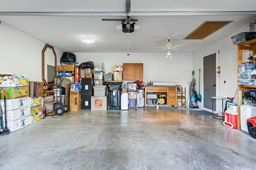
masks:
<instances>
[{"instance_id":1,"label":"brown wooden attic access panel in the ceiling","mask_svg":"<svg viewBox=\"0 0 256 170\"><path fill-rule=\"evenodd\" d=\"M204 39L233 21L205 21L184 39Z\"/></svg>"}]
</instances>

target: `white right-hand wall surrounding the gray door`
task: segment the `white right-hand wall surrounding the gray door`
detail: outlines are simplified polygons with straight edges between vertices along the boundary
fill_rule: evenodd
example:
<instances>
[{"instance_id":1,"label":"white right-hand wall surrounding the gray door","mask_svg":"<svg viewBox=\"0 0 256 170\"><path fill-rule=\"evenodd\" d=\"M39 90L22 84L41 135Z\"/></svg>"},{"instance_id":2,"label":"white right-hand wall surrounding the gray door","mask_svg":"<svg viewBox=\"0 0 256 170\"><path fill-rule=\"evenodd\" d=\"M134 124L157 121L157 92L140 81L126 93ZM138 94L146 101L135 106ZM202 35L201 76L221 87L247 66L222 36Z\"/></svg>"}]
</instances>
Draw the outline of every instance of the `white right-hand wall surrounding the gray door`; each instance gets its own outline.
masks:
<instances>
[{"instance_id":1,"label":"white right-hand wall surrounding the gray door","mask_svg":"<svg viewBox=\"0 0 256 170\"><path fill-rule=\"evenodd\" d=\"M216 96L224 96L224 97L234 97L236 88L237 88L237 45L232 44L232 39L234 35L242 32L249 32L249 27L244 26L238 29L234 33L230 33L227 37L224 37L220 40L215 41L211 45L206 47L202 47L202 49L195 51L193 53L193 70L202 69L202 61L203 57L212 53L213 51L220 51L219 58L220 61L217 63L220 64L220 77L217 78L217 86L216 86ZM211 37L214 35L211 35ZM213 37L212 37L213 38ZM247 59L249 57L248 52L243 52L243 62L248 62ZM216 55L217 59L217 55ZM218 66L218 64L216 65ZM216 68L216 71L218 69ZM195 78L198 80L199 72L195 72ZM201 74L202 76L203 74ZM216 73L217 75L217 73ZM201 79L202 80L202 79ZM224 83L226 81L226 83ZM203 82L203 81L202 81ZM198 92L199 84L196 84L196 91ZM202 92L202 84L200 87L200 92ZM221 103L220 103L221 104ZM198 102L198 105L201 106L201 103ZM221 109L219 106L218 108ZM220 110L218 110L220 111Z\"/></svg>"}]
</instances>

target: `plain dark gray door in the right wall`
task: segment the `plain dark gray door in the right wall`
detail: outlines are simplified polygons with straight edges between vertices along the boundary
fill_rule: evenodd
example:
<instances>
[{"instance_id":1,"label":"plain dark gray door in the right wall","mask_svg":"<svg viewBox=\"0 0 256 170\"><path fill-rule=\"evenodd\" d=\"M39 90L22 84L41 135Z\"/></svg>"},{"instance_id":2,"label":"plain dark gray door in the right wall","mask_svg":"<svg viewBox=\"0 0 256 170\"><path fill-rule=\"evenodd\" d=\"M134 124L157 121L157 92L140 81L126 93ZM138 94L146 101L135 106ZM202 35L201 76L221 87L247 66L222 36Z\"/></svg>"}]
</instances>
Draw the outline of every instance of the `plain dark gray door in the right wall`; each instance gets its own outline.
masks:
<instances>
[{"instance_id":1,"label":"plain dark gray door in the right wall","mask_svg":"<svg viewBox=\"0 0 256 170\"><path fill-rule=\"evenodd\" d=\"M204 57L204 107L212 109L212 97L216 96L216 53ZM213 100L216 110L216 100Z\"/></svg>"}]
</instances>

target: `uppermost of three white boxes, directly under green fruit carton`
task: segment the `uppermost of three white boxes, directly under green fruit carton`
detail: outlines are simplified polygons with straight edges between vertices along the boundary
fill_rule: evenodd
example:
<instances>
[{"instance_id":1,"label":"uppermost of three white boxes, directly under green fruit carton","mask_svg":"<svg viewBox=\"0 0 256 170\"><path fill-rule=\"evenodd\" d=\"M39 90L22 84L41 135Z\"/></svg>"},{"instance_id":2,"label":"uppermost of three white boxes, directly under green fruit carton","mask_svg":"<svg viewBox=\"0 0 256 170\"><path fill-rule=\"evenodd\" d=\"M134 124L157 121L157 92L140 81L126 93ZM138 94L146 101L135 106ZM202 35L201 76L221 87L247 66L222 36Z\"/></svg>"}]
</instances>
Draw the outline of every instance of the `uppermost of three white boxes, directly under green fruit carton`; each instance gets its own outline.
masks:
<instances>
[{"instance_id":1,"label":"uppermost of three white boxes, directly under green fruit carton","mask_svg":"<svg viewBox=\"0 0 256 170\"><path fill-rule=\"evenodd\" d=\"M15 110L21 107L29 106L29 97L17 98L17 99L7 99L6 100L6 110ZM4 100L0 100L0 105L2 110L4 110Z\"/></svg>"}]
</instances>

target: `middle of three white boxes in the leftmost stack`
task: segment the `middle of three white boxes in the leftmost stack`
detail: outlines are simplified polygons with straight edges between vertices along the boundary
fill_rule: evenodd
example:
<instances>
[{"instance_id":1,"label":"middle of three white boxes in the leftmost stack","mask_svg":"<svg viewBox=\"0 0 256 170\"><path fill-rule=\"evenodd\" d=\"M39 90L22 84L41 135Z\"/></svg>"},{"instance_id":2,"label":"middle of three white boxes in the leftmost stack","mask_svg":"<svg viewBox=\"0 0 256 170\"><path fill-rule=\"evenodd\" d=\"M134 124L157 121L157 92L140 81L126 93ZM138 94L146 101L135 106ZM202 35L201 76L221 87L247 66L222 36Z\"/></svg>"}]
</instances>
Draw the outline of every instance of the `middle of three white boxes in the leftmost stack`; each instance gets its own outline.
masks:
<instances>
[{"instance_id":1,"label":"middle of three white boxes in the leftmost stack","mask_svg":"<svg viewBox=\"0 0 256 170\"><path fill-rule=\"evenodd\" d=\"M7 117L6 117L7 121L17 120L22 117L26 117L26 116L30 115L30 107L26 106L26 107L22 107L22 108L15 109L15 110L6 110L6 115L7 115Z\"/></svg>"}]
</instances>

